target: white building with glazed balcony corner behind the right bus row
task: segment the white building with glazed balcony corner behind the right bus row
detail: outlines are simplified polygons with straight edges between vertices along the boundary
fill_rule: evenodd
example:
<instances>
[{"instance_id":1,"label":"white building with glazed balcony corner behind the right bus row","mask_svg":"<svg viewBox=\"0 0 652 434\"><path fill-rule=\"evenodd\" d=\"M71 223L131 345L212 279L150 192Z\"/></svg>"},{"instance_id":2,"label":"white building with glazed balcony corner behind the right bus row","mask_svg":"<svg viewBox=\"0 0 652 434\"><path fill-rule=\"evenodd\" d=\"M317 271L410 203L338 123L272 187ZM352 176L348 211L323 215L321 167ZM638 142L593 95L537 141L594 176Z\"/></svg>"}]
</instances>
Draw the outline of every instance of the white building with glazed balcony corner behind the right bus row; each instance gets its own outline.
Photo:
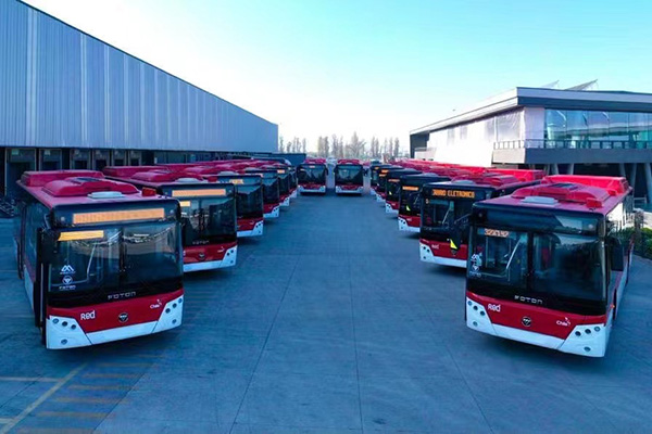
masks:
<instances>
[{"instance_id":1,"label":"white building with glazed balcony corner behind the right bus row","mask_svg":"<svg viewBox=\"0 0 652 434\"><path fill-rule=\"evenodd\" d=\"M411 155L549 174L626 176L652 202L652 94L516 88L412 130Z\"/></svg>"}]
</instances>

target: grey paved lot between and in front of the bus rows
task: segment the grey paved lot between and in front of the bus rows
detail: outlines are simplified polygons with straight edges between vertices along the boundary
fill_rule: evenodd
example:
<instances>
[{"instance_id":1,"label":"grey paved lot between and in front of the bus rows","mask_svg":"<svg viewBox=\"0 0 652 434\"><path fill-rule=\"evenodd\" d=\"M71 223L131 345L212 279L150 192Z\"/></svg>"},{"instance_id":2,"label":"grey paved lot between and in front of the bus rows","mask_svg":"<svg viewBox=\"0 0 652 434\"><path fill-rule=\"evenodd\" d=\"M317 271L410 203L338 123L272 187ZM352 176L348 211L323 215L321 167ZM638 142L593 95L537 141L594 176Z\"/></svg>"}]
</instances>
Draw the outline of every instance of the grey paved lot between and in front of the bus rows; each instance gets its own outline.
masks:
<instances>
[{"instance_id":1,"label":"grey paved lot between and in front of the bus rows","mask_svg":"<svg viewBox=\"0 0 652 434\"><path fill-rule=\"evenodd\" d=\"M607 357L486 336L464 276L368 195L299 197L233 270L187 279L184 326L45 350L0 226L0 431L645 432L650 263L637 260Z\"/></svg>"}]
</instances>

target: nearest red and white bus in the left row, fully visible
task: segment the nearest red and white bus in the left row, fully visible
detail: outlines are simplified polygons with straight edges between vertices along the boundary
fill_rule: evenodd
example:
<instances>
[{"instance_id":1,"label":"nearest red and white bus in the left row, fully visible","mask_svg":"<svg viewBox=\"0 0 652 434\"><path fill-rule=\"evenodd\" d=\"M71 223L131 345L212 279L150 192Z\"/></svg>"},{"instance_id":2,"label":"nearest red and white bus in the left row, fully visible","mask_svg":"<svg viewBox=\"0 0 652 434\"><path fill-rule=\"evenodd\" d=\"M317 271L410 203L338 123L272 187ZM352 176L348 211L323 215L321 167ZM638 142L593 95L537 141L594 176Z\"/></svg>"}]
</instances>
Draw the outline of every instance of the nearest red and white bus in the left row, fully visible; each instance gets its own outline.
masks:
<instances>
[{"instance_id":1,"label":"nearest red and white bus in the left row, fully visible","mask_svg":"<svg viewBox=\"0 0 652 434\"><path fill-rule=\"evenodd\" d=\"M181 324L178 201L93 170L26 171L18 273L48 348Z\"/></svg>"}]
</instances>

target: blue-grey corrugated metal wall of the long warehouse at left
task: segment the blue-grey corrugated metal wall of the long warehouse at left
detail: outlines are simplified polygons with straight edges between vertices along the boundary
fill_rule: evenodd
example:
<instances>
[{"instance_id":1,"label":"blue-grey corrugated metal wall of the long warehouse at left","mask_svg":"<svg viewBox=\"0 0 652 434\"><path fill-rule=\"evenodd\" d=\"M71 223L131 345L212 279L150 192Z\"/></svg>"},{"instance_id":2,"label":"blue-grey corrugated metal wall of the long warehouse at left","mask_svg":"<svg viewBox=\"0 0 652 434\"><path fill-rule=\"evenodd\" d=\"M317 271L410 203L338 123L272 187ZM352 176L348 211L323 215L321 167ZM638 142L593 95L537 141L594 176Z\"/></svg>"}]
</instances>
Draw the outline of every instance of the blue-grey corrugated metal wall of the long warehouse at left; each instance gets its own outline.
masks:
<instances>
[{"instance_id":1,"label":"blue-grey corrugated metal wall of the long warehouse at left","mask_svg":"<svg viewBox=\"0 0 652 434\"><path fill-rule=\"evenodd\" d=\"M0 0L0 146L274 152L278 126Z\"/></svg>"}]
</instances>

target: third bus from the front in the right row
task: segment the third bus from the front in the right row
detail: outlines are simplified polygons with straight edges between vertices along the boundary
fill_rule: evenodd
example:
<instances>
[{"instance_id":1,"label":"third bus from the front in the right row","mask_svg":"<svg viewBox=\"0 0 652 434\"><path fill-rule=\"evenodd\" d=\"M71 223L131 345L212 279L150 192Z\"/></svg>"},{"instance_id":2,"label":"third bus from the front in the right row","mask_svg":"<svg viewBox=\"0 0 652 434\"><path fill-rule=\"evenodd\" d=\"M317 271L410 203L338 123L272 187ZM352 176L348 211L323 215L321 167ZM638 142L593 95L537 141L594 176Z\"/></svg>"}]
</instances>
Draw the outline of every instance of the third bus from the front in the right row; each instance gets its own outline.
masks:
<instances>
[{"instance_id":1,"label":"third bus from the front in the right row","mask_svg":"<svg viewBox=\"0 0 652 434\"><path fill-rule=\"evenodd\" d=\"M399 230L421 231L421 191L426 183L450 181L436 174L403 175L399 188Z\"/></svg>"}]
</instances>

